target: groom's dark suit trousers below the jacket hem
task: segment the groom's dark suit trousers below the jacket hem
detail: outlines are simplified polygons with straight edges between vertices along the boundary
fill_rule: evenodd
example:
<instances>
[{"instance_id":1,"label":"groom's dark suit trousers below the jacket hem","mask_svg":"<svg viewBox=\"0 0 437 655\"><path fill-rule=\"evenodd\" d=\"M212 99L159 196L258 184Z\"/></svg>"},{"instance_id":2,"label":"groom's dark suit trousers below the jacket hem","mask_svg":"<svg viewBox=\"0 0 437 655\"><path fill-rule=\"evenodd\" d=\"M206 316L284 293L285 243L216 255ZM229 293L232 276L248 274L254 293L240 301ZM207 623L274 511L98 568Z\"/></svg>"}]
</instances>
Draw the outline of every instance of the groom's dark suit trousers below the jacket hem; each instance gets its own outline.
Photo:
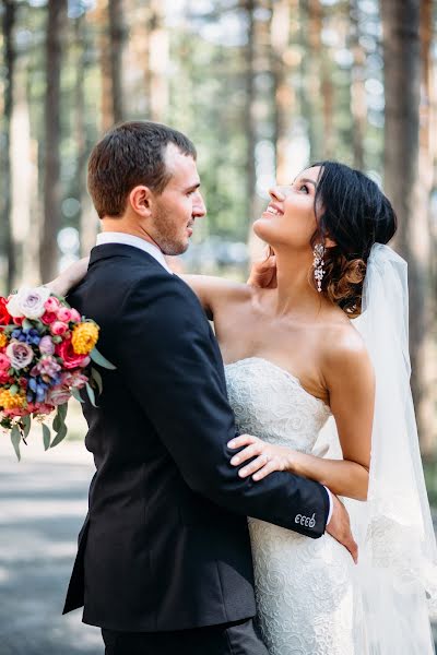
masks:
<instances>
[{"instance_id":1,"label":"groom's dark suit trousers below the jacket hem","mask_svg":"<svg viewBox=\"0 0 437 655\"><path fill-rule=\"evenodd\" d=\"M174 632L102 630L105 655L268 655L253 620Z\"/></svg>"}]
</instances>

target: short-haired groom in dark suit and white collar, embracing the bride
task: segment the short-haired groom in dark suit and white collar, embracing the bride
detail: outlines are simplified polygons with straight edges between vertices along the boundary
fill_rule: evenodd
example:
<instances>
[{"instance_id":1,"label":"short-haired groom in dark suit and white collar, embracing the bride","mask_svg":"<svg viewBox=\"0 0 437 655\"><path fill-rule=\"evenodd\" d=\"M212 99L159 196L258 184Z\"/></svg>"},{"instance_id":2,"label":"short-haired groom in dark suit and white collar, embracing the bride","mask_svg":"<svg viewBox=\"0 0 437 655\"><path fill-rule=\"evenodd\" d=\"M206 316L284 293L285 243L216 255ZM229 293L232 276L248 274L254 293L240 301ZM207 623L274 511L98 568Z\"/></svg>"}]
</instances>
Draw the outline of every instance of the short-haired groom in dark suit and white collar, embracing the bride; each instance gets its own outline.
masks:
<instances>
[{"instance_id":1,"label":"short-haired groom in dark suit and white collar, embracing the bride","mask_svg":"<svg viewBox=\"0 0 437 655\"><path fill-rule=\"evenodd\" d=\"M285 473L253 484L229 465L218 346L164 259L205 215L199 186L193 144L162 124L123 123L91 154L103 233L70 302L101 325L117 368L102 370L98 407L84 405L96 474L64 612L84 605L107 655L265 655L247 515L317 538L331 502L329 532L355 548L321 485Z\"/></svg>"}]
</instances>

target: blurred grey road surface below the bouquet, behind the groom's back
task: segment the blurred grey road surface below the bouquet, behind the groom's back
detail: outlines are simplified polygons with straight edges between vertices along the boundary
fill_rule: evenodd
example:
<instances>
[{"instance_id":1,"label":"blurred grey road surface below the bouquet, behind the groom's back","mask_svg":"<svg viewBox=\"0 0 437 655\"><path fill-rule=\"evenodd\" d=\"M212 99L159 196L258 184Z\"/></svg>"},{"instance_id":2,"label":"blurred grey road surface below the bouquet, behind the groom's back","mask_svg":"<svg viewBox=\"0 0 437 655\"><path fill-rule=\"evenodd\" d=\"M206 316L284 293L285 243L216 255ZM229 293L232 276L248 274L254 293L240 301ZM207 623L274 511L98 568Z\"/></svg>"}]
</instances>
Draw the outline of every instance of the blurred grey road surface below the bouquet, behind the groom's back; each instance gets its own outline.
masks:
<instances>
[{"instance_id":1,"label":"blurred grey road surface below the bouquet, behind the groom's back","mask_svg":"<svg viewBox=\"0 0 437 655\"><path fill-rule=\"evenodd\" d=\"M32 441L17 463L0 434L0 655L103 655L80 610L61 616L92 458L78 441Z\"/></svg>"}]
</instances>

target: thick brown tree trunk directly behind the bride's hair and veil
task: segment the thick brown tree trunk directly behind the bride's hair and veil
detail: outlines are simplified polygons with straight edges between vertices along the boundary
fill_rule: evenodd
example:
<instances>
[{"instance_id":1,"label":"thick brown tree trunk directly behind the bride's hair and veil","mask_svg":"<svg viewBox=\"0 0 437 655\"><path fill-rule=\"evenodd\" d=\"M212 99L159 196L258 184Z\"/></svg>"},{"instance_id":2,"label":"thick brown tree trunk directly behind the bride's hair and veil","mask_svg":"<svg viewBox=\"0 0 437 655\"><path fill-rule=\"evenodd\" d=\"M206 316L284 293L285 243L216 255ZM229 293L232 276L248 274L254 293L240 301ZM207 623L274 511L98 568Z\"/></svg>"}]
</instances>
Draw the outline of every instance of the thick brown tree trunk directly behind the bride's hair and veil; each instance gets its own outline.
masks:
<instances>
[{"instance_id":1,"label":"thick brown tree trunk directly behind the bride's hair and veil","mask_svg":"<svg viewBox=\"0 0 437 655\"><path fill-rule=\"evenodd\" d=\"M425 333L428 285L427 190L421 178L420 3L381 0L386 83L385 186L398 214L395 246L409 262L412 389L420 433L428 441ZM426 186L426 184L425 184Z\"/></svg>"}]
</instances>

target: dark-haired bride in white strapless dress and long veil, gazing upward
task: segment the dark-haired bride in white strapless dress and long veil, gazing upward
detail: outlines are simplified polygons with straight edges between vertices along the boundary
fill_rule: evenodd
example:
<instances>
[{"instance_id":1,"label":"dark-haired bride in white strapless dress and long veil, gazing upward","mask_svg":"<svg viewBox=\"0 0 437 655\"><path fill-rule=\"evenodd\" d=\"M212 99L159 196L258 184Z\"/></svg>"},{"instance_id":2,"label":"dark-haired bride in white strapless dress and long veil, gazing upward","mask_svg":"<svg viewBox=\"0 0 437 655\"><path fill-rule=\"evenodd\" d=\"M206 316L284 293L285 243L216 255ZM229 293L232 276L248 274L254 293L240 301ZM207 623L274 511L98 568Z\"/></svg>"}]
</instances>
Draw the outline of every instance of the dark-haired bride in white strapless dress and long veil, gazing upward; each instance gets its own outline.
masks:
<instances>
[{"instance_id":1,"label":"dark-haired bride in white strapless dress and long veil, gazing upward","mask_svg":"<svg viewBox=\"0 0 437 655\"><path fill-rule=\"evenodd\" d=\"M232 464L253 484L290 471L345 498L359 562L329 534L249 519L263 639L271 655L432 654L437 558L409 386L405 266L383 246L395 215L374 181L332 162L270 195L253 224L270 257L252 284L184 278L214 321L237 428L259 436L229 443ZM66 271L57 290L85 267Z\"/></svg>"}]
</instances>

